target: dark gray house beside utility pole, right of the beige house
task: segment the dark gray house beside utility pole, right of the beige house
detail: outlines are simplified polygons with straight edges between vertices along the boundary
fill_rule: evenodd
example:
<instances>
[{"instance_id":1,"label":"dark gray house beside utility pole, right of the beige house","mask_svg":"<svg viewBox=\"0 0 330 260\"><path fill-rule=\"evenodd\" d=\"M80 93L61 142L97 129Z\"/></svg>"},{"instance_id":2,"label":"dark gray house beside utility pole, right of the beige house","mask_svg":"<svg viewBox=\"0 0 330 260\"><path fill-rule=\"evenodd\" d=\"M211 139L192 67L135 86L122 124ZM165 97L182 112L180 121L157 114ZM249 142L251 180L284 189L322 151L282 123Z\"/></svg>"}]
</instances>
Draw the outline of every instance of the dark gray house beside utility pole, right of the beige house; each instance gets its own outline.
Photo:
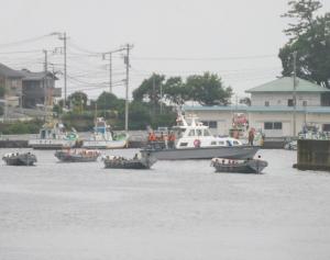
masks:
<instances>
[{"instance_id":1,"label":"dark gray house beside utility pole, right of the beige house","mask_svg":"<svg viewBox=\"0 0 330 260\"><path fill-rule=\"evenodd\" d=\"M61 88L55 88L56 76L50 71L31 72L26 69L21 70L23 108L35 109L38 105L52 105L54 98L62 94Z\"/></svg>"}]
</instances>

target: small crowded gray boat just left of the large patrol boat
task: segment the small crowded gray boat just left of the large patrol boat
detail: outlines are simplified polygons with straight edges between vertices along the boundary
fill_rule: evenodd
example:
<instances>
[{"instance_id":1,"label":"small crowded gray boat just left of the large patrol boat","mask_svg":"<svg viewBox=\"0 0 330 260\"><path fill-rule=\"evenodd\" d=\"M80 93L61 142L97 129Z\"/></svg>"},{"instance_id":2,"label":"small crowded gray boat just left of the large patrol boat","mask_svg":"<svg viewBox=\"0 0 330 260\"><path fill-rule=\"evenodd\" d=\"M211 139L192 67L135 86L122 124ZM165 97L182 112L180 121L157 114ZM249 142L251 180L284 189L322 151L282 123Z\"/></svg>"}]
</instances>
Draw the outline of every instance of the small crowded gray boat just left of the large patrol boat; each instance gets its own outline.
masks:
<instances>
[{"instance_id":1,"label":"small crowded gray boat just left of the large patrol boat","mask_svg":"<svg viewBox=\"0 0 330 260\"><path fill-rule=\"evenodd\" d=\"M118 156L107 156L103 158L105 168L111 169L150 169L157 159L150 154L138 154L132 159Z\"/></svg>"}]
</instances>

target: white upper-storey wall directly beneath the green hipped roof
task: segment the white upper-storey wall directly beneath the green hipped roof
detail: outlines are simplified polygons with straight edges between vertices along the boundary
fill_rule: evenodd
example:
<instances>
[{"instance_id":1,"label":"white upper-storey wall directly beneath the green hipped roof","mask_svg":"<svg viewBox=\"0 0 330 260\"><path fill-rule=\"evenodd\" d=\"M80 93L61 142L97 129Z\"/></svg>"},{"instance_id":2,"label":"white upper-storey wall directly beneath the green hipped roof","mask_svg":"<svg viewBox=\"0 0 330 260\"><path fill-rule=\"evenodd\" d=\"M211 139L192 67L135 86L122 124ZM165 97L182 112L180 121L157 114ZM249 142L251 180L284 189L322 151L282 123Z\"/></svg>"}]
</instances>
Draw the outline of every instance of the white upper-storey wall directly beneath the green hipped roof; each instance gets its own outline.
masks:
<instances>
[{"instance_id":1,"label":"white upper-storey wall directly beneath the green hipped roof","mask_svg":"<svg viewBox=\"0 0 330 260\"><path fill-rule=\"evenodd\" d=\"M292 93L252 93L252 105L265 106L265 102L270 103L270 106L287 106L288 100L293 99ZM321 94L320 93L297 93L297 105L304 106L304 101L307 101L307 106L320 106Z\"/></svg>"}]
</instances>

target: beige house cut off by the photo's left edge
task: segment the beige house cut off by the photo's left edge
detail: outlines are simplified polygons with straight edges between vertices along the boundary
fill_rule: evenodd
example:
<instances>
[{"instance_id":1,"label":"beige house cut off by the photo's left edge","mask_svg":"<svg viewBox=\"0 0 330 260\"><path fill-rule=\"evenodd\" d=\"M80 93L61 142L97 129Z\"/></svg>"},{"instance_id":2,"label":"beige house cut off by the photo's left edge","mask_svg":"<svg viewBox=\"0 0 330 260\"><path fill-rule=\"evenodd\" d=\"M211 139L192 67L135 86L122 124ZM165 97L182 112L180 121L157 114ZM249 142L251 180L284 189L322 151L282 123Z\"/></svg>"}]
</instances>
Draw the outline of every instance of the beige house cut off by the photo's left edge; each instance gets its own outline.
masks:
<instances>
[{"instance_id":1,"label":"beige house cut off by the photo's left edge","mask_svg":"<svg viewBox=\"0 0 330 260\"><path fill-rule=\"evenodd\" d=\"M0 64L0 88L4 89L6 104L16 108L22 104L22 79L24 75Z\"/></svg>"}]
</instances>

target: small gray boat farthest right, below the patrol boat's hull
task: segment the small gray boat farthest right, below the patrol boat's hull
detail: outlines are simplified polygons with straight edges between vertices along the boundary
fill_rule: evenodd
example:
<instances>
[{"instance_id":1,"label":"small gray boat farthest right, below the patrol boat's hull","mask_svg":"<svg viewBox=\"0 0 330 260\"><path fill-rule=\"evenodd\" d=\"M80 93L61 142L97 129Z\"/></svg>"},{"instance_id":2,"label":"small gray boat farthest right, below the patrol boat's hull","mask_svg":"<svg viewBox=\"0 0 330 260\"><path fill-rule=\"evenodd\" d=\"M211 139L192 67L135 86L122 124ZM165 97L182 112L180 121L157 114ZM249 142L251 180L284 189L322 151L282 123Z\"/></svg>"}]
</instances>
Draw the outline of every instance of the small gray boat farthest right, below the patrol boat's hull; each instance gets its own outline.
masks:
<instances>
[{"instance_id":1,"label":"small gray boat farthest right, below the patrol boat's hull","mask_svg":"<svg viewBox=\"0 0 330 260\"><path fill-rule=\"evenodd\" d=\"M268 162L261 159L229 160L213 158L211 166L216 168L216 172L261 173L268 166Z\"/></svg>"}]
</instances>

